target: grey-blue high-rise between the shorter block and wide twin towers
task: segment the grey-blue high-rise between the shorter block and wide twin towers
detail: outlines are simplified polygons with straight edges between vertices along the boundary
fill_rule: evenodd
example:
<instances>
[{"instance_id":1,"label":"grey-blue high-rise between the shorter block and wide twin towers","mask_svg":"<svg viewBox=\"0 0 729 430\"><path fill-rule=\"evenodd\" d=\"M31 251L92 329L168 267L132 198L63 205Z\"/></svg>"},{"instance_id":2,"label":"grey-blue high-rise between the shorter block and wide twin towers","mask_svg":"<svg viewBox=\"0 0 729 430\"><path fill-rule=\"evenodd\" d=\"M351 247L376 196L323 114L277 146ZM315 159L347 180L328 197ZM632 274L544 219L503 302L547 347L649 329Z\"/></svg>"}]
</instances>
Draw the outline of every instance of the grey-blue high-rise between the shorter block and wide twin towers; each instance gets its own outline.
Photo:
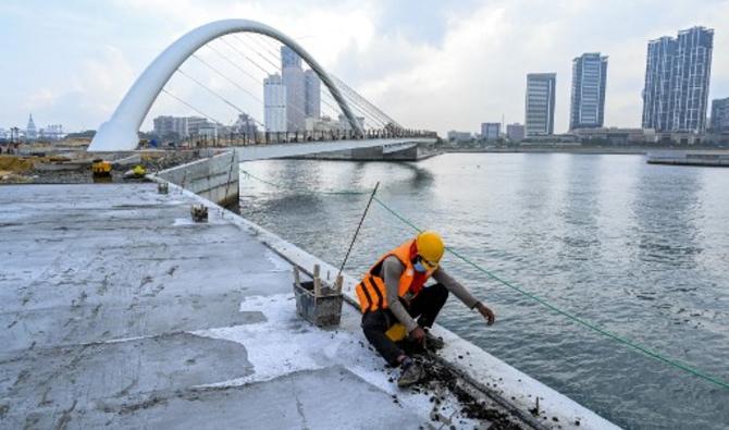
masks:
<instances>
[{"instance_id":1,"label":"grey-blue high-rise between the shorter block and wide twin towers","mask_svg":"<svg viewBox=\"0 0 729 430\"><path fill-rule=\"evenodd\" d=\"M572 60L569 130L603 126L606 82L607 57L588 52Z\"/></svg>"}]
</instances>

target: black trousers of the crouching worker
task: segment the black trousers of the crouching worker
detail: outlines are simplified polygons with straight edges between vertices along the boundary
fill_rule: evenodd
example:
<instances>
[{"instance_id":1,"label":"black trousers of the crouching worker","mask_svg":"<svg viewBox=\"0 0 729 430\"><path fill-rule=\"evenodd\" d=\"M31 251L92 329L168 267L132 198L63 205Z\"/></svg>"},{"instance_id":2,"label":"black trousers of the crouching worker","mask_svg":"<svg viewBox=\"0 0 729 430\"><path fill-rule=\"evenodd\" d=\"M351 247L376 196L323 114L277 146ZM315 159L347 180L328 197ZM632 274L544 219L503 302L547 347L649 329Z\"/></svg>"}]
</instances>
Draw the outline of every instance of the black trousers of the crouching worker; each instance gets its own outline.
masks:
<instances>
[{"instance_id":1,"label":"black trousers of the crouching worker","mask_svg":"<svg viewBox=\"0 0 729 430\"><path fill-rule=\"evenodd\" d=\"M425 328L433 325L447 298L448 290L443 284L435 284L424 287L410 302L410 306L403 300L400 303L412 318L418 318L418 325ZM399 321L390 309L378 309L362 315L364 336L391 366L397 366L397 357L404 354L403 349L385 335L396 322Z\"/></svg>"}]
</instances>

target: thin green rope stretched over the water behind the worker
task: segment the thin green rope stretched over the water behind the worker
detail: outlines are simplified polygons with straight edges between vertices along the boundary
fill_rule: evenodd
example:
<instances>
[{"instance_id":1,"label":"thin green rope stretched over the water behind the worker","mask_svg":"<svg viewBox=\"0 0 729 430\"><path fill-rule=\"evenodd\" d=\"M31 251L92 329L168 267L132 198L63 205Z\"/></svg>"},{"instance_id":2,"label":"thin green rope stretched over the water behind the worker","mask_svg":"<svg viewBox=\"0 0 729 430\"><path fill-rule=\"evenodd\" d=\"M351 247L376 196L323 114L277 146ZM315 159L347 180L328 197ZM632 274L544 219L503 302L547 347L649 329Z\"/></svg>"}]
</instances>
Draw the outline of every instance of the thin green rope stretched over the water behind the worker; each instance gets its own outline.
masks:
<instances>
[{"instance_id":1,"label":"thin green rope stretched over the water behind the worker","mask_svg":"<svg viewBox=\"0 0 729 430\"><path fill-rule=\"evenodd\" d=\"M247 174L248 176L250 176L250 177L257 180L257 181L260 181L260 182L264 183L264 184L268 184L268 185L271 185L271 186L275 186L275 187L277 187L277 188L283 188L282 185L279 185L279 184L275 184L275 183L265 181L265 180L260 179L260 177L257 177L257 176L255 176L255 175L252 175L252 174L246 172L245 170L242 170L242 172L245 173L245 174ZM354 195L368 194L368 192L316 192L316 191L313 191L313 192L311 192L311 191L301 191L301 192L302 192L302 193L309 193L309 194L345 194L345 195L346 195L346 194L354 194ZM387 206L387 205L386 205L384 201L382 201L380 198L374 197L374 201L376 201L378 205L380 205L383 209L385 209L385 210L386 210L387 212L390 212L392 216L394 216L395 218L397 218L397 219L398 219L400 222L403 222L404 224L408 225L409 228L411 228L412 230L415 230L415 231L417 231L417 232L422 232L422 229L418 228L418 226L417 226L415 223L412 223L410 220L408 220L407 218L405 218L404 216L401 216L400 213L398 213L395 209L393 209L393 208L391 208L390 206ZM569 320L571 320L571 321L573 321L573 322L576 322L576 323L578 323L578 324L580 324L580 325L582 325L582 327L585 327L585 328L588 328L588 329L590 329L590 330L592 330L592 331L594 331L594 332L596 332L596 333L600 333L600 334L602 334L602 335L604 335L604 336L606 336L606 337L608 337L608 339L610 339L610 340L613 340L613 341L615 341L615 342L617 342L617 343L619 343L619 344L622 344L622 345L626 345L626 346L628 346L628 347L630 347L630 348L633 348L633 349L635 349L635 351L638 351L638 352L644 354L645 356L647 356L647 357L650 357L650 358L656 359L656 360L658 360L658 361L660 361L660 363L664 363L664 364L666 364L666 365L668 365L668 366L675 367L675 368L677 368L677 369L680 369L680 370L683 370L683 371L685 371L685 372L688 372L688 373L691 373L691 374L693 374L693 376L695 376L695 377L697 377L697 378L701 378L701 379L703 379L704 381L711 382L711 383L713 383L713 384L715 384L715 385L718 385L718 386L720 386L720 388L722 388L722 389L727 389L727 390L729 390L729 382L727 382L727 381L724 381L724 380L721 380L721 379L719 379L719 378L717 378L717 377L711 376L711 374L708 374L708 373L706 373L706 372L704 372L704 371L702 371L702 370L700 370L700 369L696 369L696 368L694 368L694 367L692 367L692 366L685 365L685 364L683 364L683 363L681 363L681 361L679 361L679 360L677 360L677 359L674 359L674 358L664 356L663 354L660 354L660 353L658 353L658 352L656 352L656 351L654 351L654 349L651 349L651 348L648 348L648 347L646 347L646 346L640 345L640 344L638 344L638 343L635 343L635 342L633 342L633 341L631 341L631 340L629 340L629 339L627 339L627 337L620 336L619 334L616 334L616 333L613 333L613 332L610 332L610 331L608 331L608 330L605 330L605 329L601 328L600 325L597 325L597 324L595 324L595 323L593 323L593 322L586 321L586 320L584 320L584 319L582 319L582 318L580 318L580 317L578 317L578 316L576 316L576 315L572 315L572 314L570 314L570 312L568 312L568 311L566 311L566 310L563 310L563 309L556 307L555 305L551 304L549 302L545 300L544 298L541 298L541 297L539 297L538 295L535 295L535 294L533 294L533 293L530 293L530 292L528 292L528 291L526 291L526 290L523 290L523 288L521 288L521 287L519 287L519 286L517 286L517 285L514 285L512 283L510 283L510 282L508 282L508 281L506 281L506 280L504 280L504 279L502 279L502 278L499 278L499 277L497 277L497 275L494 274L493 272L491 272L491 271L489 271L489 270L482 268L481 266L477 265L475 262L473 262L473 261L470 260L469 258L462 256L461 254L459 254L458 251L456 251L456 250L453 249L452 247L446 247L446 250L447 250L448 253L453 254L456 258L458 258L458 259L460 259L461 261L466 262L467 265L471 266L471 267L474 268L475 270L478 270L478 271L480 271L481 273L487 275L487 277L491 278L492 280L494 280L494 281L496 281L496 282L498 282L498 283L501 283L501 284L503 284L503 285L505 285L505 286L507 286L507 287L509 287L509 288L511 288L511 290L514 290L514 291L520 293L521 295L523 295L523 296L526 296L526 297L531 298L532 300L534 300L534 302L539 303L540 305L542 305L542 306L548 308L549 310L554 311L555 314L561 315L563 317L566 317L567 319L569 319Z\"/></svg>"}]
</instances>

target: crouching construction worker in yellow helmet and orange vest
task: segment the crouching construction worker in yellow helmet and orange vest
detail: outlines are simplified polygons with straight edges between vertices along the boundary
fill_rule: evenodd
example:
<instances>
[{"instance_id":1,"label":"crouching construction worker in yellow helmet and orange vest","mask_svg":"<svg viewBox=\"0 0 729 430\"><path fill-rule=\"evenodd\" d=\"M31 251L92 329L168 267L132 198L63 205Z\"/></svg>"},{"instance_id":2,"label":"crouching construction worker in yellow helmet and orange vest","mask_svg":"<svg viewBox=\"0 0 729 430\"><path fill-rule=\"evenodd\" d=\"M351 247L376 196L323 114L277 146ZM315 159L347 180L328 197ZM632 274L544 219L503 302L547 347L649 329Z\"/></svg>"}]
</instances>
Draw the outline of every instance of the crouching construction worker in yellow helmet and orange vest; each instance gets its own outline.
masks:
<instances>
[{"instance_id":1,"label":"crouching construction worker in yellow helmet and orange vest","mask_svg":"<svg viewBox=\"0 0 729 430\"><path fill-rule=\"evenodd\" d=\"M495 320L489 307L438 266L444 250L437 233L420 233L382 256L355 290L362 310L364 336L391 366L400 368L399 386L420 381L424 370L391 339L397 337L390 331L395 331L397 323L405 327L408 341L421 346L425 342L436 348L443 346L428 329L433 325L448 293L455 294L470 309L478 309L489 325ZM437 283L425 286L431 277Z\"/></svg>"}]
</instances>

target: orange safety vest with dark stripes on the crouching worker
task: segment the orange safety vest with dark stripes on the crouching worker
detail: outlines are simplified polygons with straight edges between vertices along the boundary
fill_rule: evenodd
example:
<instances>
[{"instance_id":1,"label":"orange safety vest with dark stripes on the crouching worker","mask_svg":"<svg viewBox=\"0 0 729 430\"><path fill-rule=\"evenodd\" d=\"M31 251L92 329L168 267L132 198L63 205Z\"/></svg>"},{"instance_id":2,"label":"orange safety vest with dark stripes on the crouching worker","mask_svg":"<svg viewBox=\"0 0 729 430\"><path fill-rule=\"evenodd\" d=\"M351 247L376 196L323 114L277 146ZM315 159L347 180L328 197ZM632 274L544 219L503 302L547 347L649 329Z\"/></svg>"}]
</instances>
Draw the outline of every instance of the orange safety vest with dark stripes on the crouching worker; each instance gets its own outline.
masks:
<instances>
[{"instance_id":1,"label":"orange safety vest with dark stripes on the crouching worker","mask_svg":"<svg viewBox=\"0 0 729 430\"><path fill-rule=\"evenodd\" d=\"M399 297L405 297L408 293L413 295L420 293L425 281L433 274L433 271L429 270L423 274L416 273L416 270L412 267L412 258L416 254L418 254L416 241L411 239L385 254L374 266L372 266L372 268L364 274L364 278L362 278L362 281L357 284L357 287L355 288L362 314L367 311L375 311L378 309L387 309L388 307L387 290L385 287L385 281L380 278L380 272L382 270L383 261L390 256L397 257L397 259L400 260L400 263L405 266L405 270L403 270L403 274L400 275L397 295Z\"/></svg>"}]
</instances>

